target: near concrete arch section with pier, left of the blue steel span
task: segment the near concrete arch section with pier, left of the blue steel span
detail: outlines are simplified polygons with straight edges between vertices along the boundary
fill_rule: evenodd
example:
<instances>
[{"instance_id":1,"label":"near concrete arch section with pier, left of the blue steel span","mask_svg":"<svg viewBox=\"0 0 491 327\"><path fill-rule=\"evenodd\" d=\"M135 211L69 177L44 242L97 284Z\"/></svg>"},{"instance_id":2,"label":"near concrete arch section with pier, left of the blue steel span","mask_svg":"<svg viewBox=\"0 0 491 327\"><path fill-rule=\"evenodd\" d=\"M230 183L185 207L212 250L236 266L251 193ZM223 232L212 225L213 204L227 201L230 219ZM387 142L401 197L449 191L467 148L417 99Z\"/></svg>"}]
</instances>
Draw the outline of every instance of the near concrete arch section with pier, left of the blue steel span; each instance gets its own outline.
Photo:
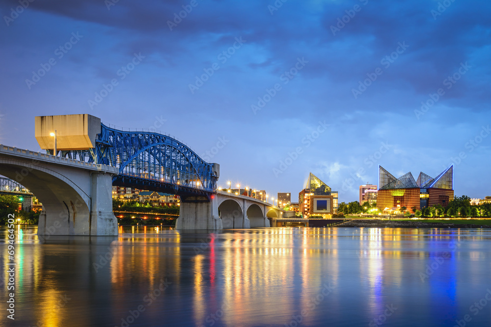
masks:
<instances>
[{"instance_id":1,"label":"near concrete arch section with pier, left of the blue steel span","mask_svg":"<svg viewBox=\"0 0 491 327\"><path fill-rule=\"evenodd\" d=\"M116 167L55 157L0 144L0 175L43 203L39 235L117 235L112 213Z\"/></svg>"}]
</instances>

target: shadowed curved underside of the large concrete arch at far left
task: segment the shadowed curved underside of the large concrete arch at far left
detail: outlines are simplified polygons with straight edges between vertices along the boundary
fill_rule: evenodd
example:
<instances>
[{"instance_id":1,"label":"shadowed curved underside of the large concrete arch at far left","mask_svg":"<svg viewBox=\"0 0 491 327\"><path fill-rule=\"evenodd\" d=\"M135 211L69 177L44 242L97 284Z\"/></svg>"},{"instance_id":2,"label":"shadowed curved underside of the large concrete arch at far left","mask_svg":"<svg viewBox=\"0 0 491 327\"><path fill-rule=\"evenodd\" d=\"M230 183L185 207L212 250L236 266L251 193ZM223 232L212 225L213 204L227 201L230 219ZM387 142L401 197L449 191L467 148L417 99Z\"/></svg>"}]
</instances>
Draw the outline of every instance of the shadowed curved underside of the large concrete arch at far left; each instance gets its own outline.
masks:
<instances>
[{"instance_id":1,"label":"shadowed curved underside of the large concrete arch at far left","mask_svg":"<svg viewBox=\"0 0 491 327\"><path fill-rule=\"evenodd\" d=\"M24 162L0 158L1 175L24 185L43 203L39 217L40 235L89 235L90 194L82 190L82 184L90 189L90 181L75 176L68 178L62 173L38 165L35 160ZM81 185L81 186L79 186ZM50 223L46 224L47 215ZM79 233L81 232L81 233Z\"/></svg>"}]
</instances>

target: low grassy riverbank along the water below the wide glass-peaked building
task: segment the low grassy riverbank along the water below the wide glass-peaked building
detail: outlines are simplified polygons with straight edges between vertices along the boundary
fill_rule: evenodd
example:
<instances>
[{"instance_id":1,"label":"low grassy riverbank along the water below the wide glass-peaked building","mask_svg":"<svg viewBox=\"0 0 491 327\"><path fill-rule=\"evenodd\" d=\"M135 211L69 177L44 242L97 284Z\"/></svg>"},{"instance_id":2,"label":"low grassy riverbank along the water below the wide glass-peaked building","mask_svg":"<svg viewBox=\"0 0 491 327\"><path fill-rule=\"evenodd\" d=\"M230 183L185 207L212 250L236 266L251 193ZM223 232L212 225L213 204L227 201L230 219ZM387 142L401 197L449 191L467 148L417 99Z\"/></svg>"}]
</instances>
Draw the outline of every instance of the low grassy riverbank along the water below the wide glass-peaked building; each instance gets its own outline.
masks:
<instances>
[{"instance_id":1,"label":"low grassy riverbank along the water below the wide glass-peaked building","mask_svg":"<svg viewBox=\"0 0 491 327\"><path fill-rule=\"evenodd\" d=\"M367 228L491 228L491 220L479 220L479 219L452 219L452 220L438 220L438 219L394 219L394 220L381 220L381 219L352 219L344 223L335 225L335 227L367 227Z\"/></svg>"}]
</instances>

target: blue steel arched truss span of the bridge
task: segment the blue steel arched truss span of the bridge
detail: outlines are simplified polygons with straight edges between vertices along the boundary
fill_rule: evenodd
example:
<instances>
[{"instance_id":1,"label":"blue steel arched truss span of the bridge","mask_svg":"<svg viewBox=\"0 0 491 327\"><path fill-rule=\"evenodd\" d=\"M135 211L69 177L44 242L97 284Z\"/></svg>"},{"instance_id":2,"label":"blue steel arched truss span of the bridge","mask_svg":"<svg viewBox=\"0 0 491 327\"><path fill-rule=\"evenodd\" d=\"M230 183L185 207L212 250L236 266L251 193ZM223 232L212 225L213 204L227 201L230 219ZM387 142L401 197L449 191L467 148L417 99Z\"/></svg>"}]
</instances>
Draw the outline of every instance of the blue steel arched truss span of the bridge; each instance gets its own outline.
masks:
<instances>
[{"instance_id":1,"label":"blue steel arched truss span of the bridge","mask_svg":"<svg viewBox=\"0 0 491 327\"><path fill-rule=\"evenodd\" d=\"M61 156L117 167L113 185L177 194L182 201L210 201L216 191L218 164L168 135L101 123L95 143L93 149L61 151Z\"/></svg>"}]
</instances>

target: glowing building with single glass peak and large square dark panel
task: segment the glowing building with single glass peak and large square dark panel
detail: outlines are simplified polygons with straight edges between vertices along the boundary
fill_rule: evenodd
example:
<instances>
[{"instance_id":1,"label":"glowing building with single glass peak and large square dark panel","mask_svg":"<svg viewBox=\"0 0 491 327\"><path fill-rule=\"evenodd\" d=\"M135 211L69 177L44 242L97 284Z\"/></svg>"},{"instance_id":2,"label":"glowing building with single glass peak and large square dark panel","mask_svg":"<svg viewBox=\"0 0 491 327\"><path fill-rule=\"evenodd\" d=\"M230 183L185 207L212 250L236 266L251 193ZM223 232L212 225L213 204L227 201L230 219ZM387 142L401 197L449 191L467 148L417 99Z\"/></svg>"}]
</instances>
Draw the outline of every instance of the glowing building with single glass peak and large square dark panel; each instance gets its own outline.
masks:
<instances>
[{"instance_id":1,"label":"glowing building with single glass peak and large square dark panel","mask_svg":"<svg viewBox=\"0 0 491 327\"><path fill-rule=\"evenodd\" d=\"M302 216L330 218L337 212L337 208L337 191L332 191L326 183L310 173L307 185L299 193L299 212Z\"/></svg>"}]
</instances>

